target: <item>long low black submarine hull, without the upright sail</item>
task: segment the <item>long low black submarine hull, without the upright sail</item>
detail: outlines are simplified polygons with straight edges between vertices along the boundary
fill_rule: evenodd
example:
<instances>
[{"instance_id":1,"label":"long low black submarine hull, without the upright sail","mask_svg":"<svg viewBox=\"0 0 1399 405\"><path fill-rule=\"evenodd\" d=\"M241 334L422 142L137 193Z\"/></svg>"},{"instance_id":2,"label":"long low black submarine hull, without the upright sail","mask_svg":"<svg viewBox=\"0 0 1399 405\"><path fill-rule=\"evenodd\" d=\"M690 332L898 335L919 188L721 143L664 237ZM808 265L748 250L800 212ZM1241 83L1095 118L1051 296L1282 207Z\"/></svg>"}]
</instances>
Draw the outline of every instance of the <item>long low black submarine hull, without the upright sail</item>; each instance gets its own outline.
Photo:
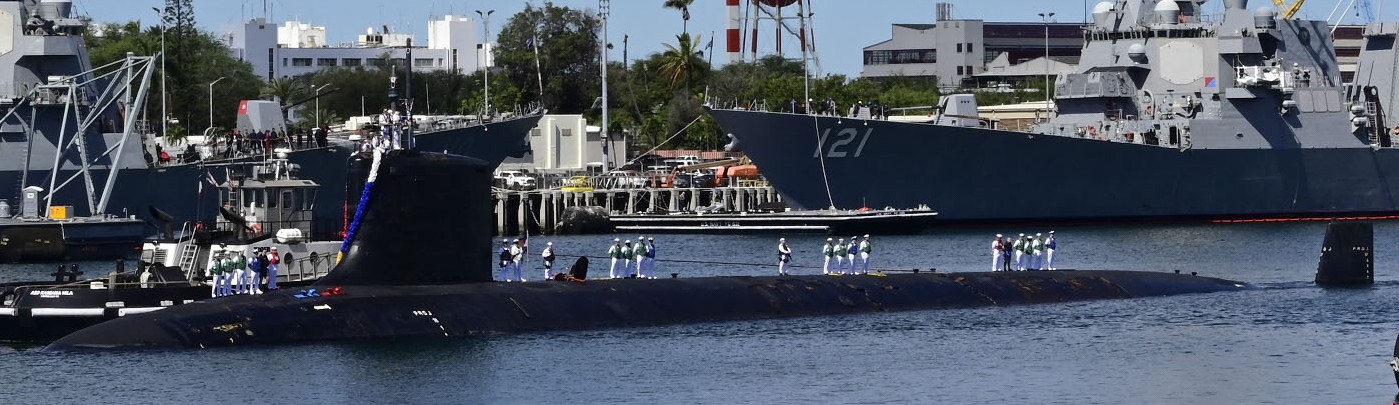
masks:
<instances>
[{"instance_id":1,"label":"long low black submarine hull, without the upright sail","mask_svg":"<svg viewBox=\"0 0 1399 405\"><path fill-rule=\"evenodd\" d=\"M129 315L74 332L48 349L470 336L1135 298L1247 287L1214 277L1126 270L316 286Z\"/></svg>"}]
</instances>

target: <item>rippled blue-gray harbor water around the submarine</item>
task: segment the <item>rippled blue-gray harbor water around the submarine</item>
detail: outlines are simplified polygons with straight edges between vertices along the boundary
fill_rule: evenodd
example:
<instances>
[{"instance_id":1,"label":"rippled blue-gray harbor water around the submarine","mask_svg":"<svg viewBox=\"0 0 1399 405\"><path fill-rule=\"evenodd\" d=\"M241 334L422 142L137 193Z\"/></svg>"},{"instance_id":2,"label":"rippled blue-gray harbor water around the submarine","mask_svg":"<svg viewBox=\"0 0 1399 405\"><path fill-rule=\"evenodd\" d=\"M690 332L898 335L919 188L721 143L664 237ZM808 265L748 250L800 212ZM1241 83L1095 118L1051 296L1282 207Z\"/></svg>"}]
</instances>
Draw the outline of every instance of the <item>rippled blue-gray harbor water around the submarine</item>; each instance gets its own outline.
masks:
<instances>
[{"instance_id":1,"label":"rippled blue-gray harbor water around the submarine","mask_svg":"<svg viewBox=\"0 0 1399 405\"><path fill-rule=\"evenodd\" d=\"M1060 227L1059 268L1182 270L1241 293L459 339L158 352L0 346L7 404L1388 404L1399 221L1372 287L1311 283L1325 223ZM874 268L990 268L995 233L873 235ZM635 240L635 234L616 235ZM848 235L846 235L848 237ZM532 237L596 258L613 235ZM824 235L788 235L818 273ZM497 241L498 242L498 241ZM776 273L776 235L656 235L659 272ZM560 261L567 268L571 258ZM718 263L713 263L718 262ZM85 263L87 276L111 263ZM3 266L43 279L52 265ZM630 280L645 282L645 280Z\"/></svg>"}]
</instances>

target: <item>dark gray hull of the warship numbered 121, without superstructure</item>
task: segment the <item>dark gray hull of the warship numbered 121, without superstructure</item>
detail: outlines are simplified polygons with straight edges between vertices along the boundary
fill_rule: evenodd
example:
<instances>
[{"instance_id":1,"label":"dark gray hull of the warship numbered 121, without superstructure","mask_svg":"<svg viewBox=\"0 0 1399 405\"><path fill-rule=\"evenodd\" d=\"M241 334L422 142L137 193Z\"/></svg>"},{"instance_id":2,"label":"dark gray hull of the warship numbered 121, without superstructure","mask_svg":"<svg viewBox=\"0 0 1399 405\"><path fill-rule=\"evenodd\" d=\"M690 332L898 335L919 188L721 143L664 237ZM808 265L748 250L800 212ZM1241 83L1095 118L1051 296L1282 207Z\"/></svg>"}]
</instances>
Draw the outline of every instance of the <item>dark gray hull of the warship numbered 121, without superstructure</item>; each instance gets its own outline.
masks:
<instances>
[{"instance_id":1,"label":"dark gray hull of the warship numbered 121, without superstructure","mask_svg":"<svg viewBox=\"0 0 1399 405\"><path fill-rule=\"evenodd\" d=\"M939 221L957 223L1399 214L1393 149L1181 150L930 123L709 114L803 209L928 205ZM856 136L831 157L841 139L820 143L827 129Z\"/></svg>"}]
</instances>

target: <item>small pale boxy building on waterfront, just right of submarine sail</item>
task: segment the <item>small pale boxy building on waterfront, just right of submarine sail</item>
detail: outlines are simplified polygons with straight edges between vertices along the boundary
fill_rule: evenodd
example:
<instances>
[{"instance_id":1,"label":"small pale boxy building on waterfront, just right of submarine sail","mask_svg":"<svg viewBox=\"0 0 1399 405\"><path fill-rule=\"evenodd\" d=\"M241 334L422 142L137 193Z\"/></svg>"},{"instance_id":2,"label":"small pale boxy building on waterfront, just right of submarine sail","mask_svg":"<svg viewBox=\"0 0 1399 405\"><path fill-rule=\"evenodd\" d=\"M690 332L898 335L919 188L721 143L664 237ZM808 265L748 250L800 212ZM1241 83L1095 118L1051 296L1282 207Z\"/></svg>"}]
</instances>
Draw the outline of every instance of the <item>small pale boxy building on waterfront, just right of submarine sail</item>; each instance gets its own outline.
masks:
<instances>
[{"instance_id":1,"label":"small pale boxy building on waterfront, just right of submarine sail","mask_svg":"<svg viewBox=\"0 0 1399 405\"><path fill-rule=\"evenodd\" d=\"M586 170L590 163L603 161L602 135L578 114L546 115L539 121L539 126L530 130L529 143L532 153L525 157L506 157L499 168L568 171ZM627 156L627 142L621 137L614 139L609 154L614 161Z\"/></svg>"}]
</instances>

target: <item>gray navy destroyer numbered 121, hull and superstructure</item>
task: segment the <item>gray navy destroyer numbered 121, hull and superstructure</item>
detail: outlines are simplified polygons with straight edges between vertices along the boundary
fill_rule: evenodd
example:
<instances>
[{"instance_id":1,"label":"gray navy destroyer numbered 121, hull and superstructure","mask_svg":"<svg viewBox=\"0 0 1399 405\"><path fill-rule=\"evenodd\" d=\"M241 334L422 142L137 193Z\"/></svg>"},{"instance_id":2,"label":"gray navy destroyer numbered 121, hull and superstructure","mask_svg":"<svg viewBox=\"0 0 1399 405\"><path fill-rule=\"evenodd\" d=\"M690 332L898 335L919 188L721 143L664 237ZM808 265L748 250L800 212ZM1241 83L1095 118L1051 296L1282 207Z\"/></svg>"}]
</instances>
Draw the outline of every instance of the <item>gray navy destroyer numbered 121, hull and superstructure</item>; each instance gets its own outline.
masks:
<instances>
[{"instance_id":1,"label":"gray navy destroyer numbered 121, hull and superstructure","mask_svg":"<svg viewBox=\"0 0 1399 405\"><path fill-rule=\"evenodd\" d=\"M725 109L709 114L797 207L915 207L940 221L1297 219L1399 213L1399 25L1367 27L1343 84L1326 21L1226 0L1093 8L1076 71L1028 130Z\"/></svg>"}]
</instances>

